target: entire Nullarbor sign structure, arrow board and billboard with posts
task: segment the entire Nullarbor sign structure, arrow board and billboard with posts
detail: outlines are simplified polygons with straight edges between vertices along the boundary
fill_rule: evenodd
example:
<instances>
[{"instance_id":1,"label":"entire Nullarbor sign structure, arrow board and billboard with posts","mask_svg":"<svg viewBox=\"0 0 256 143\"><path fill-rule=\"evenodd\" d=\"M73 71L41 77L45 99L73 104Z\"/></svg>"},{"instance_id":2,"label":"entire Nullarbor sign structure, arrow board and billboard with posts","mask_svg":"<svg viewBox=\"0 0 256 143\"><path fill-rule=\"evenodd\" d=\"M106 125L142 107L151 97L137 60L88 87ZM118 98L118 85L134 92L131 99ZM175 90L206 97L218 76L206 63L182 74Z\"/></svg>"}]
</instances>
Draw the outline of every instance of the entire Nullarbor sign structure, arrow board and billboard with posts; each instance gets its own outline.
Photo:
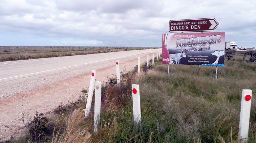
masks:
<instances>
[{"instance_id":1,"label":"entire Nullarbor sign structure, arrow board and billboard with posts","mask_svg":"<svg viewBox=\"0 0 256 143\"><path fill-rule=\"evenodd\" d=\"M218 25L215 18L171 20L169 32L181 34L162 35L162 63L198 65L199 70L200 65L216 66L217 79L218 66L224 66L225 32L203 31L214 31Z\"/></svg>"}]
</instances>

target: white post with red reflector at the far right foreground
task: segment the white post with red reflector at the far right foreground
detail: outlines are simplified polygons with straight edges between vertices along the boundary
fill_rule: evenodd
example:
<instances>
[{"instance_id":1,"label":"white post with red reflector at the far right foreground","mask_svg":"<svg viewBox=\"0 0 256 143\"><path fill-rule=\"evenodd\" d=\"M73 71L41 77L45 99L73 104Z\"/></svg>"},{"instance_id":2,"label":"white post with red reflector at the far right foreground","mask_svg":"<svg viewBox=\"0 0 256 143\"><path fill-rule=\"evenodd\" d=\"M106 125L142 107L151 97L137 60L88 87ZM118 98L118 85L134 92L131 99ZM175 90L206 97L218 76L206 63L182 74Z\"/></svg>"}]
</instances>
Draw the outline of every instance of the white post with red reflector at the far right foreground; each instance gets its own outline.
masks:
<instances>
[{"instance_id":1,"label":"white post with red reflector at the far right foreground","mask_svg":"<svg viewBox=\"0 0 256 143\"><path fill-rule=\"evenodd\" d=\"M240 139L245 139L245 141L248 138L248 131L249 131L251 97L252 97L252 90L243 89L242 100L241 100L240 121L239 121L240 130L238 132L238 135Z\"/></svg>"}]
</instances>

